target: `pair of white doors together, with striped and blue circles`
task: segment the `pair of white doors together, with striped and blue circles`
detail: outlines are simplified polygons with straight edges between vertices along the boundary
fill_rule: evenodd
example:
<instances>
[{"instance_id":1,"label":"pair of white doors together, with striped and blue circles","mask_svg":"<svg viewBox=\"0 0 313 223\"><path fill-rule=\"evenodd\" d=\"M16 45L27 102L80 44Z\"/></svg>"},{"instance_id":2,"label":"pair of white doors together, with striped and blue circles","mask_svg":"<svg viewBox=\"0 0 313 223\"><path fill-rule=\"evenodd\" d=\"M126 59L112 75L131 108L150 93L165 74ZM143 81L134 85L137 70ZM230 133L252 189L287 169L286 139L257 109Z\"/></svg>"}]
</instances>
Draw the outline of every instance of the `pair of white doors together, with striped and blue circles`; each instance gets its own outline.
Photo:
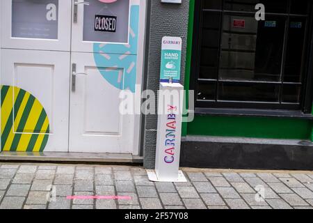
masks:
<instances>
[{"instance_id":1,"label":"pair of white doors together, with striped and blue circles","mask_svg":"<svg viewBox=\"0 0 313 223\"><path fill-rule=\"evenodd\" d=\"M138 155L145 1L86 1L0 1L1 151Z\"/></svg>"}]
</instances>

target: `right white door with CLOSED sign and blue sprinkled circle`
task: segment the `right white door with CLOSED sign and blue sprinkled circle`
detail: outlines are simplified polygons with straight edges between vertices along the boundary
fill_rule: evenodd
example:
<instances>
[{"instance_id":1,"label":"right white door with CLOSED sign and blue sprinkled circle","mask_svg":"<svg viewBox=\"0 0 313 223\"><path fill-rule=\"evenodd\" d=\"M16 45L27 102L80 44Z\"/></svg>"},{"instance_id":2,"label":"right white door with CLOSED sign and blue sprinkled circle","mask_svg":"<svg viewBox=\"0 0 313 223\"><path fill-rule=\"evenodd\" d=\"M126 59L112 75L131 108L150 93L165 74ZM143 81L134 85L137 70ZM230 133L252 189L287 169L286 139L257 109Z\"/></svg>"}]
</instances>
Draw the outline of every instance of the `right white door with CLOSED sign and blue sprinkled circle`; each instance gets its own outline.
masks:
<instances>
[{"instance_id":1,"label":"right white door with CLOSED sign and blue sprinkled circle","mask_svg":"<svg viewBox=\"0 0 313 223\"><path fill-rule=\"evenodd\" d=\"M141 83L144 6L110 2L73 8L71 152L138 154L139 118L120 113L120 93L135 95Z\"/></svg>"}]
</instances>

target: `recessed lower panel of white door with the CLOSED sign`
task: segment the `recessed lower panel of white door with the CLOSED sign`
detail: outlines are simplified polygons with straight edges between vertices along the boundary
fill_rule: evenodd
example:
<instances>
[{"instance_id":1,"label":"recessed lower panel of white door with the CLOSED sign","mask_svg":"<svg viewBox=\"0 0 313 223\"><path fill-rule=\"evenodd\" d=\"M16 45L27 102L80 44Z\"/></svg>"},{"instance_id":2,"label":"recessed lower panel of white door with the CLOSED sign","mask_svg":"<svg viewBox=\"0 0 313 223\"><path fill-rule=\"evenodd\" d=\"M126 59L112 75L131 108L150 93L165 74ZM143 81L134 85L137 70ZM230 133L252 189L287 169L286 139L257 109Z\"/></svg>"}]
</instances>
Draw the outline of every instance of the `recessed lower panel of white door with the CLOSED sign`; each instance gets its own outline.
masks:
<instances>
[{"instance_id":1,"label":"recessed lower panel of white door with the CLOSED sign","mask_svg":"<svg viewBox=\"0 0 313 223\"><path fill-rule=\"evenodd\" d=\"M123 68L99 68L103 72L111 72L111 75L118 75L120 85L123 84ZM122 117L118 111L120 104L118 89L104 89L106 85L105 79L99 75L97 67L86 67L85 72L88 77L85 78L85 84L81 89L83 95L83 107L85 112L83 120L85 121L83 132L84 134L97 135L119 135ZM110 102L110 108L108 107Z\"/></svg>"}]
</instances>

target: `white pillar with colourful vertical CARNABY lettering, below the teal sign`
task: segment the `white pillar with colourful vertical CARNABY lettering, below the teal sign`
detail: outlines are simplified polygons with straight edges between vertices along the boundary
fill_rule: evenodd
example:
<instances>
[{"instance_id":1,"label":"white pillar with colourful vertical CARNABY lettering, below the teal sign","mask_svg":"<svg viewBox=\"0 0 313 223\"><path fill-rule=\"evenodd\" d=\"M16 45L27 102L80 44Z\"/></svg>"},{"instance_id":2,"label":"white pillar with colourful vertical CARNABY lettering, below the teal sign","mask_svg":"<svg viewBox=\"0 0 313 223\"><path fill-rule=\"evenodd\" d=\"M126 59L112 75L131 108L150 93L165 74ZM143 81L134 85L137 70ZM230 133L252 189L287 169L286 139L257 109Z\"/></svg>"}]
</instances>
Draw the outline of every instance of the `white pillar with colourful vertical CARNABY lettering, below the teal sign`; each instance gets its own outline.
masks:
<instances>
[{"instance_id":1,"label":"white pillar with colourful vertical CARNABY lettering, below the teal sign","mask_svg":"<svg viewBox=\"0 0 313 223\"><path fill-rule=\"evenodd\" d=\"M155 173L159 181L178 181L184 86L161 83Z\"/></svg>"}]
</instances>

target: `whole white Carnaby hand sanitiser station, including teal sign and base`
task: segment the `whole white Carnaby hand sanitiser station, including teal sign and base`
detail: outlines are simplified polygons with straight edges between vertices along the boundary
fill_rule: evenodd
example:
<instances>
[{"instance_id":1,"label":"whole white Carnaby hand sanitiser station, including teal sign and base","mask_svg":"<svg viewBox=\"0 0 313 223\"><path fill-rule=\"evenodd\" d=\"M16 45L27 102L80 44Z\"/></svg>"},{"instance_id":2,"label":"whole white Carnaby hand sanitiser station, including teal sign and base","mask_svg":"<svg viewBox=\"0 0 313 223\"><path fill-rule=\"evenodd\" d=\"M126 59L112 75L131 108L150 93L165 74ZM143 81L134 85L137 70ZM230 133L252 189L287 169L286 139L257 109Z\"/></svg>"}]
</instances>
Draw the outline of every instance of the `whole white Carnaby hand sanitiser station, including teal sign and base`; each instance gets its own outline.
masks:
<instances>
[{"instance_id":1,"label":"whole white Carnaby hand sanitiser station, including teal sign and base","mask_svg":"<svg viewBox=\"0 0 313 223\"><path fill-rule=\"evenodd\" d=\"M154 182L186 182L179 171L184 86L180 82L182 38L162 39L161 79L158 104L155 170L147 174Z\"/></svg>"}]
</instances>

